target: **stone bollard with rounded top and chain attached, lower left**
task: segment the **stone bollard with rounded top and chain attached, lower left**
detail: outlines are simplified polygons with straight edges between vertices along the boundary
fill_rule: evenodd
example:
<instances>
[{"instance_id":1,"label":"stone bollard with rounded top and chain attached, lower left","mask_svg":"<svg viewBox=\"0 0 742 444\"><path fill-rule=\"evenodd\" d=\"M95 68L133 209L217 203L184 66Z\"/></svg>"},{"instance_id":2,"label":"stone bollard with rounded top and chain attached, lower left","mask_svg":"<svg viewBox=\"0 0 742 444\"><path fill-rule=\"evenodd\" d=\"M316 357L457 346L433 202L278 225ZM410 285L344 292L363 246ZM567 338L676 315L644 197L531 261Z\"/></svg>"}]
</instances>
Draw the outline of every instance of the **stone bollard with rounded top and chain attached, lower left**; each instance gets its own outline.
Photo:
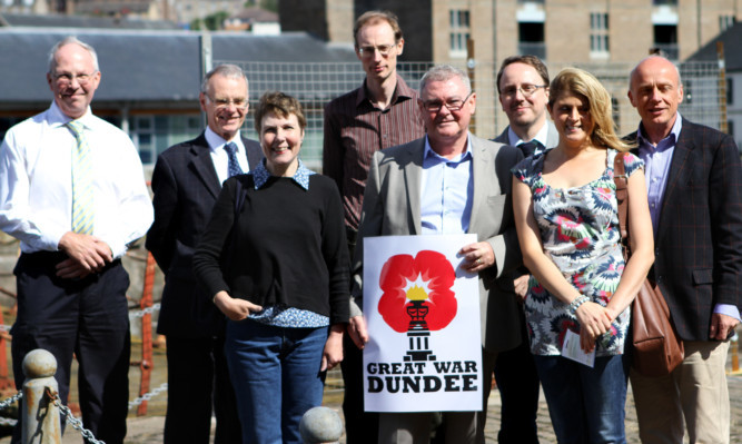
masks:
<instances>
[{"instance_id":1,"label":"stone bollard with rounded top and chain attached, lower left","mask_svg":"<svg viewBox=\"0 0 742 444\"><path fill-rule=\"evenodd\" d=\"M59 408L46 391L59 391L55 373L57 359L46 349L37 348L23 358L23 408L21 443L61 444Z\"/></svg>"}]
</instances>

